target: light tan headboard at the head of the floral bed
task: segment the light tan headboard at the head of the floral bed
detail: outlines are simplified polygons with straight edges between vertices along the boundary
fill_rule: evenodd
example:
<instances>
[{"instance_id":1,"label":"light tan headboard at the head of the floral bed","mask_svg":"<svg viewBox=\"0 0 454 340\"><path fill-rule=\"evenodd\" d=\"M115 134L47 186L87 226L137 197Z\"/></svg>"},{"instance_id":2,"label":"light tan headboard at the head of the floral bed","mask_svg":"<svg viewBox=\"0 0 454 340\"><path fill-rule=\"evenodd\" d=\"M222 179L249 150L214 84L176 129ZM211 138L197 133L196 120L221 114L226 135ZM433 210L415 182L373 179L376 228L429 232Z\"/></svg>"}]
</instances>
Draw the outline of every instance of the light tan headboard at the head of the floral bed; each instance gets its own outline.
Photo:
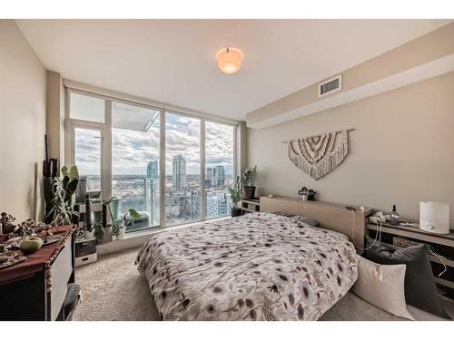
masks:
<instances>
[{"instance_id":1,"label":"light tan headboard at the head of the floral bed","mask_svg":"<svg viewBox=\"0 0 454 340\"><path fill-rule=\"evenodd\" d=\"M299 214L311 219L316 219L321 227L346 235L350 241L354 238L355 248L361 253L364 248L364 234L366 230L366 219L372 209L352 206L353 213L346 209L348 205L320 202L316 200L301 200L288 197L275 196L273 198L262 196L260 198L260 210L268 212L285 212ZM353 228L354 220L354 228Z\"/></svg>"}]
</instances>

